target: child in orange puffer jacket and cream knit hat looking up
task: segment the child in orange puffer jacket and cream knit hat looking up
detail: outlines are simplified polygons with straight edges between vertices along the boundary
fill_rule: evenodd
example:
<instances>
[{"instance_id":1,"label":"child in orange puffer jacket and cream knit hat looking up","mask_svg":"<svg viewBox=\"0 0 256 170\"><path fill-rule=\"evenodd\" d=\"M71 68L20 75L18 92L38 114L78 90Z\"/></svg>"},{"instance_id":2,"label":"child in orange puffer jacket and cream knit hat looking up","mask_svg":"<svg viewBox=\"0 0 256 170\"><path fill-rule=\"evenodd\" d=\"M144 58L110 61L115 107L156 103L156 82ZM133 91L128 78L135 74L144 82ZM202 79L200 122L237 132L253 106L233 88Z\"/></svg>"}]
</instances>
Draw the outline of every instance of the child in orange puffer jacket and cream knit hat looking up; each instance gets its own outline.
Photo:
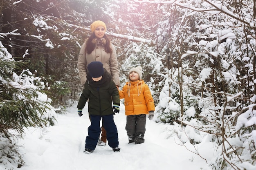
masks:
<instances>
[{"instance_id":1,"label":"child in orange puffer jacket and cream knit hat looking up","mask_svg":"<svg viewBox=\"0 0 256 170\"><path fill-rule=\"evenodd\" d=\"M126 132L129 144L144 143L146 131L146 115L151 120L154 116L155 104L149 87L141 79L142 68L137 66L129 71L129 82L119 90L120 99L124 98L126 117Z\"/></svg>"}]
</instances>

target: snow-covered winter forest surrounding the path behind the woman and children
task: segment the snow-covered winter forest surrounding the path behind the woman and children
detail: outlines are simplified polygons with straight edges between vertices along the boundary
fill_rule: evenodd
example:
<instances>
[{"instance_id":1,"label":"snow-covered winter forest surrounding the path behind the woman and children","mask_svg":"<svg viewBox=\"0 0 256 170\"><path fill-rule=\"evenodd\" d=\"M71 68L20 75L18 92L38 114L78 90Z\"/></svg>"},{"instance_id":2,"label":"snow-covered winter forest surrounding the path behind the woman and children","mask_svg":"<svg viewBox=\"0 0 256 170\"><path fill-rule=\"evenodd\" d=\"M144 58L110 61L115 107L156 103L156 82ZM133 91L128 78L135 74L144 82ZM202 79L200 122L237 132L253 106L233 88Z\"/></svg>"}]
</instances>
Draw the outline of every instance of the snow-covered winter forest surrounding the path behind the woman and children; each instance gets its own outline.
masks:
<instances>
[{"instance_id":1,"label":"snow-covered winter forest surrounding the path behind the woman and children","mask_svg":"<svg viewBox=\"0 0 256 170\"><path fill-rule=\"evenodd\" d=\"M184 143L210 137L213 170L256 167L256 0L0 0L0 13L0 163L22 167L24 129L79 99L79 50L102 20L121 87L143 68L154 121Z\"/></svg>"}]
</instances>

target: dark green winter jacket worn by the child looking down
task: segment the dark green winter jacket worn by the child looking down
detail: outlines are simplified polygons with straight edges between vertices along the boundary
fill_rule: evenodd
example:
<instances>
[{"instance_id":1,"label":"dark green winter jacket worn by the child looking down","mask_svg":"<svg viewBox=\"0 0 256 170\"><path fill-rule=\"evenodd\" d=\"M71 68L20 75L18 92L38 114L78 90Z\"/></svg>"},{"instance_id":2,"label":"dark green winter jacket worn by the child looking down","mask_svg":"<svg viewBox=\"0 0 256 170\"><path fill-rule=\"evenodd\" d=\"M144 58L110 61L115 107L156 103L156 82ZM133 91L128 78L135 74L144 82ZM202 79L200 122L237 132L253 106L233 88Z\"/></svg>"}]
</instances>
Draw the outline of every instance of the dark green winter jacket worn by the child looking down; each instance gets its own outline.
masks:
<instances>
[{"instance_id":1,"label":"dark green winter jacket worn by the child looking down","mask_svg":"<svg viewBox=\"0 0 256 170\"><path fill-rule=\"evenodd\" d=\"M120 106L118 89L105 68L102 79L98 82L94 82L92 77L87 74L87 80L77 108L84 108L88 99L89 115L111 115L114 114L112 102Z\"/></svg>"}]
</instances>

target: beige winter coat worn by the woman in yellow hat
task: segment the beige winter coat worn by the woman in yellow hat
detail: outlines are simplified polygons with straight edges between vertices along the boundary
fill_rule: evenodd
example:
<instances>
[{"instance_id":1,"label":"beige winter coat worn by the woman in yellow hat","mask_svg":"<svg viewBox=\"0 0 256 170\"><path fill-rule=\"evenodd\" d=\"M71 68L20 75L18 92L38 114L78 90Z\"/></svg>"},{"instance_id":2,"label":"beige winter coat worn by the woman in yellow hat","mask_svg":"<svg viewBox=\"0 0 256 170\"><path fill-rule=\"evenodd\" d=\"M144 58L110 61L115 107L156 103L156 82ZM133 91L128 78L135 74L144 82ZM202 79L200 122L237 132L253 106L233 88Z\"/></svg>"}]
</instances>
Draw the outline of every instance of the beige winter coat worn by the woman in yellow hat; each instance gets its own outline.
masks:
<instances>
[{"instance_id":1,"label":"beige winter coat worn by the woman in yellow hat","mask_svg":"<svg viewBox=\"0 0 256 170\"><path fill-rule=\"evenodd\" d=\"M86 41L83 43L78 56L78 70L82 84L85 84L86 82L86 71L88 64L90 64L90 62L98 61L101 62L103 64L103 68L110 73L115 84L120 86L117 53L115 46L113 44L110 45L112 48L112 53L106 53L102 44L95 44L95 49L92 51L92 53L88 54L85 53Z\"/></svg>"}]
</instances>

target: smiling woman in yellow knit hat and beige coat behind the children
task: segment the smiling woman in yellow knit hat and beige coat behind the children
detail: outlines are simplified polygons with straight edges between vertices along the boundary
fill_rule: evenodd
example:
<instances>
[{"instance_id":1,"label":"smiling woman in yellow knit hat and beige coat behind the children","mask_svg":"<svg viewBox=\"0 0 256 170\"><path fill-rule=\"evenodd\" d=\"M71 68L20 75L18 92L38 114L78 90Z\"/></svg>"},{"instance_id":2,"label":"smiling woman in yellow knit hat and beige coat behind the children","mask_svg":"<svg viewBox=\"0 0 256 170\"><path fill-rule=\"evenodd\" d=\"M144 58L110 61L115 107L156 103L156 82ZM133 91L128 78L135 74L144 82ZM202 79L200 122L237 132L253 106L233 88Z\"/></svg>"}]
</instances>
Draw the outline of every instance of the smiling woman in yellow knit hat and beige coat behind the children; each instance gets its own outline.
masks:
<instances>
[{"instance_id":1,"label":"smiling woman in yellow knit hat and beige coat behind the children","mask_svg":"<svg viewBox=\"0 0 256 170\"><path fill-rule=\"evenodd\" d=\"M92 34L85 40L81 46L78 57L78 70L81 83L85 84L87 75L87 66L91 62L98 61L103 64L108 73L112 76L117 88L120 86L119 69L117 62L117 54L115 46L110 42L106 36L106 24L102 21L94 21L91 26ZM104 123L101 127L101 140L99 145L106 146L106 130Z\"/></svg>"}]
</instances>

